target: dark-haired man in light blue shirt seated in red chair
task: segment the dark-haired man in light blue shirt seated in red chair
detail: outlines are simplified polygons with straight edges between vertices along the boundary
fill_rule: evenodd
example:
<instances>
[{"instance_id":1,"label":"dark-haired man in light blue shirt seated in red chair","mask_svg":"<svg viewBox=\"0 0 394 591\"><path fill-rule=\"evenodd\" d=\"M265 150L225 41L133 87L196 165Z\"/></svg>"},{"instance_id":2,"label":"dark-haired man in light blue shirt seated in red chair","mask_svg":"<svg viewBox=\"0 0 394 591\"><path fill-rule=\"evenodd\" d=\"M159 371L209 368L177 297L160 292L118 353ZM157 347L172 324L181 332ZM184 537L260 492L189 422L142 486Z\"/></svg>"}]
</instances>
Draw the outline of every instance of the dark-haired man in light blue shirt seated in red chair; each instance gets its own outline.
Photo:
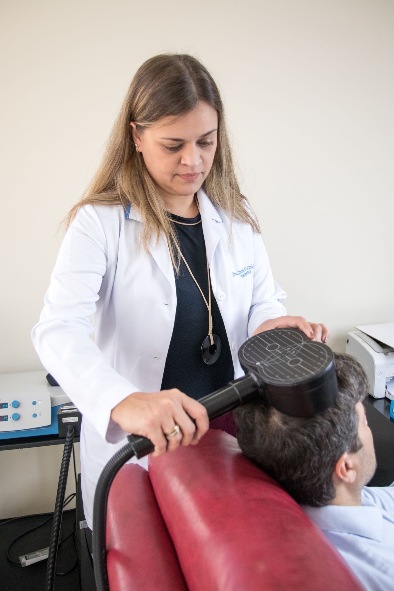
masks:
<instances>
[{"instance_id":1,"label":"dark-haired man in light blue shirt seated in red chair","mask_svg":"<svg viewBox=\"0 0 394 591\"><path fill-rule=\"evenodd\" d=\"M235 411L242 452L279 482L336 546L370 591L394 589L394 483L366 487L376 470L362 400L367 377L335 354L338 398L312 418L264 402Z\"/></svg>"}]
</instances>

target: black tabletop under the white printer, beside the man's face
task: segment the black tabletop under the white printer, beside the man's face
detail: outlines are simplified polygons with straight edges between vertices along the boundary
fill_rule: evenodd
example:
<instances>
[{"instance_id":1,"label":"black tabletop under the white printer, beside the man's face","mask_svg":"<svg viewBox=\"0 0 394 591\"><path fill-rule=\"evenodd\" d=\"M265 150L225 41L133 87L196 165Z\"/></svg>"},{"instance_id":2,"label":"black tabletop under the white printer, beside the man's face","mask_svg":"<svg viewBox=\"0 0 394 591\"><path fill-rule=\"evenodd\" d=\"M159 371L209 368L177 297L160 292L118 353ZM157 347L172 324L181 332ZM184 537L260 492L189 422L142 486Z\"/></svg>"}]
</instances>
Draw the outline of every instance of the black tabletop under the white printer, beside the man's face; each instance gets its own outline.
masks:
<instances>
[{"instance_id":1,"label":"black tabletop under the white printer, beside the man's face","mask_svg":"<svg viewBox=\"0 0 394 591\"><path fill-rule=\"evenodd\" d=\"M390 401L368 395L364 407L377 460L375 476L369 486L389 486L394 482L394 421L390 419Z\"/></svg>"}]
</instances>

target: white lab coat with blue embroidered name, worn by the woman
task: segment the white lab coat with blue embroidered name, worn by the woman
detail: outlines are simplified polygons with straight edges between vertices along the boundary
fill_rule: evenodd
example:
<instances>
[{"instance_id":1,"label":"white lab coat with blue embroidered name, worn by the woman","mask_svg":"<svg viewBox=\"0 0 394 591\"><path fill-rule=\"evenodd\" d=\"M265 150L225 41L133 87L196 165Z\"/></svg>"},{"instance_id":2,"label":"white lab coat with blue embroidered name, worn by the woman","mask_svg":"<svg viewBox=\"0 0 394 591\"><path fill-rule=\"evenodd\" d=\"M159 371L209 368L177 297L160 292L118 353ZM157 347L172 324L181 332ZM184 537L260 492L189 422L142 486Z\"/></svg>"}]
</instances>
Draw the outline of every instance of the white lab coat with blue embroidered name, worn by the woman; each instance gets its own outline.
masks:
<instances>
[{"instance_id":1,"label":"white lab coat with blue embroidered name, worn by the woman","mask_svg":"<svg viewBox=\"0 0 394 591\"><path fill-rule=\"evenodd\" d=\"M229 218L202 188L197 197L212 290L238 378L240 345L264 320L286 314L286 294L273 281L261 236L235 221L230 249ZM121 206L81 207L32 329L41 362L83 414L82 494L90 528L99 475L126 443L110 412L132 392L159 391L174 326L177 294L167 241L163 236L152 243L147 255L139 246L140 230L133 207L126 216ZM146 459L141 462L146 466Z\"/></svg>"}]
</instances>

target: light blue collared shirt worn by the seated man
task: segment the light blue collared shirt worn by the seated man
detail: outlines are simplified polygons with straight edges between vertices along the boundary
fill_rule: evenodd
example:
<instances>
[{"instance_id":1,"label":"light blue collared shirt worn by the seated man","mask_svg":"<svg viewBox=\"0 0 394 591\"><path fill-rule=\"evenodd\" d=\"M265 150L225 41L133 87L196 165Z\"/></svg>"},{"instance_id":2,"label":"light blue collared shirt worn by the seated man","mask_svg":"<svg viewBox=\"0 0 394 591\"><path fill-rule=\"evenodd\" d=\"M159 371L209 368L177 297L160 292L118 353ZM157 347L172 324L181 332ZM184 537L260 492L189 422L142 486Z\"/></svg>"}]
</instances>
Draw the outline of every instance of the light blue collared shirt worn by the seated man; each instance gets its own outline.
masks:
<instances>
[{"instance_id":1,"label":"light blue collared shirt worn by the seated man","mask_svg":"<svg viewBox=\"0 0 394 591\"><path fill-rule=\"evenodd\" d=\"M394 482L366 486L360 506L303 506L367 591L394 590Z\"/></svg>"}]
</instances>

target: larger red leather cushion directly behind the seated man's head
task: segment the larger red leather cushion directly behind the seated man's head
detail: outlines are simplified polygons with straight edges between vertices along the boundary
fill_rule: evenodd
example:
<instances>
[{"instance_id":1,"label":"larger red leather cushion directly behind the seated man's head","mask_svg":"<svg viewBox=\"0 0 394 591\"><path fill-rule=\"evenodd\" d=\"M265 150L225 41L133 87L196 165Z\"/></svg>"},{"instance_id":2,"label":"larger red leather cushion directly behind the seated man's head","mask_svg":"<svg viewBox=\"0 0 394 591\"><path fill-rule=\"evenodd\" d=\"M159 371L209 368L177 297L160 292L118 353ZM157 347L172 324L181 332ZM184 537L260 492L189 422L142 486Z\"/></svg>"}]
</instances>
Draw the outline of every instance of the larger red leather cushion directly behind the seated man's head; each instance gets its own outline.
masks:
<instances>
[{"instance_id":1,"label":"larger red leather cushion directly behind the seated man's head","mask_svg":"<svg viewBox=\"0 0 394 591\"><path fill-rule=\"evenodd\" d=\"M197 446L151 458L149 476L190 591L363 589L229 434L210 430Z\"/></svg>"}]
</instances>

